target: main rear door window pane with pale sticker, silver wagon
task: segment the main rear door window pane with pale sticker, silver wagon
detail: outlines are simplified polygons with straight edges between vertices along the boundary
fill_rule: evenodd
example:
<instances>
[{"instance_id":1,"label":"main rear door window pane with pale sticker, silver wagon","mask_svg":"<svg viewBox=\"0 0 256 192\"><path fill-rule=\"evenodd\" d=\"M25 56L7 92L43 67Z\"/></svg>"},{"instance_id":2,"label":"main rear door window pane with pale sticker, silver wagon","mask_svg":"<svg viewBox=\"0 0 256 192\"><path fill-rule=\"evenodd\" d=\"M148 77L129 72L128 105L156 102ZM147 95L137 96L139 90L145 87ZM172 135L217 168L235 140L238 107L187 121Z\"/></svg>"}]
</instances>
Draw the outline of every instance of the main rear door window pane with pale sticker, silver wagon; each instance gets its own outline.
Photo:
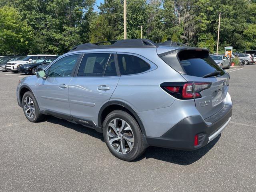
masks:
<instances>
[{"instance_id":1,"label":"main rear door window pane with pale sticker, silver wagon","mask_svg":"<svg viewBox=\"0 0 256 192\"><path fill-rule=\"evenodd\" d=\"M110 59L110 53L89 53L85 54L77 76L80 77L100 77L103 76L108 60Z\"/></svg>"}]
</instances>

